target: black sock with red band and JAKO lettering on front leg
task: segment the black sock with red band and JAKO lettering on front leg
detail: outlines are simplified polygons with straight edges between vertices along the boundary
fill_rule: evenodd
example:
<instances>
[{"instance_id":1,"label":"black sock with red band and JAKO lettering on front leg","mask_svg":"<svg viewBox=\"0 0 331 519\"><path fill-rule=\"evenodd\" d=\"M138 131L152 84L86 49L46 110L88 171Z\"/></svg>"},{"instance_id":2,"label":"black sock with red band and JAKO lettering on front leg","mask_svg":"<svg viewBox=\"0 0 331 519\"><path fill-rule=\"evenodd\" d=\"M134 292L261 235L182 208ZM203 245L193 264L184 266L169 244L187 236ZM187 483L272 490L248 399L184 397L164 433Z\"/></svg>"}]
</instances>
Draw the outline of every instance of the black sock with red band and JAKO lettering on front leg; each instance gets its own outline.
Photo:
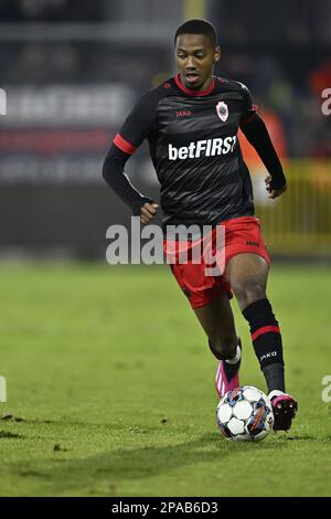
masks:
<instances>
[{"instance_id":1,"label":"black sock with red band and JAKO lettering on front leg","mask_svg":"<svg viewBox=\"0 0 331 519\"><path fill-rule=\"evenodd\" d=\"M255 354L268 391L285 391L281 335L269 300L252 303L243 310L243 316L249 322Z\"/></svg>"}]
</instances>

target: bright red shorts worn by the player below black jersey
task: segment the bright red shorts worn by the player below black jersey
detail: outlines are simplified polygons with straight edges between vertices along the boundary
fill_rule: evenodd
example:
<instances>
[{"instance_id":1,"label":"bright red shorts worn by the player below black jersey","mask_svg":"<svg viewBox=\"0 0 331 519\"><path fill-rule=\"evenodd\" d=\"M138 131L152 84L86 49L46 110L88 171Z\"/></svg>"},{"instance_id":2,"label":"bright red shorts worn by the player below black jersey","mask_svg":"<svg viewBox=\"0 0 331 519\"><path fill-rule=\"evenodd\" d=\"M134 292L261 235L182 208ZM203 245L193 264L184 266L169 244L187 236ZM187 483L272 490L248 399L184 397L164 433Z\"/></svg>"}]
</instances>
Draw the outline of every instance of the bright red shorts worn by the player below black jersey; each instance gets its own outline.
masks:
<instances>
[{"instance_id":1,"label":"bright red shorts worn by the player below black jersey","mask_svg":"<svg viewBox=\"0 0 331 519\"><path fill-rule=\"evenodd\" d=\"M241 216L222 222L225 230L224 267L233 256L243 253L258 254L264 257L268 264L270 258L261 236L259 220L255 216ZM213 231L214 232L214 231ZM173 251L174 241L164 240L163 248L167 252ZM177 246L183 244L188 247L188 242L177 242ZM189 245L190 248L190 245ZM206 264L204 258L201 263L189 261L184 264L178 262L175 256L171 266L172 273L181 289L188 297L192 308L200 308L216 299L222 292L226 292L232 297L232 290L224 274L206 275Z\"/></svg>"}]
</instances>

